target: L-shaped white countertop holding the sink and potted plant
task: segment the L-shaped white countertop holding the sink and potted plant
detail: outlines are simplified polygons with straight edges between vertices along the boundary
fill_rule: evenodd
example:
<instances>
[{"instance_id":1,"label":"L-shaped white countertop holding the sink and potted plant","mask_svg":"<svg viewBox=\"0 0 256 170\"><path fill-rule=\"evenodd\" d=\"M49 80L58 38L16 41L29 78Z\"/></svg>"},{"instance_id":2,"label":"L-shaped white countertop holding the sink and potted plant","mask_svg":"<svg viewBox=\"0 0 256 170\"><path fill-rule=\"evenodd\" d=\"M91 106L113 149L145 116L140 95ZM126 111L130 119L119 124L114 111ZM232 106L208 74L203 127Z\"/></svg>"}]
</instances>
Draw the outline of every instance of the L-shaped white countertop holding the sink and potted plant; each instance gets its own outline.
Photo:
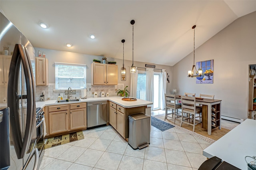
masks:
<instances>
[{"instance_id":1,"label":"L-shaped white countertop holding the sink and potted plant","mask_svg":"<svg viewBox=\"0 0 256 170\"><path fill-rule=\"evenodd\" d=\"M91 101L112 101L113 103L116 103L124 108L132 108L132 107L140 107L140 106L146 106L146 105L152 105L153 103L150 101L145 101L141 99L137 99L137 101L122 101L123 97L120 96L110 96L110 97L91 97L88 99L80 99L80 101L74 101L74 102L66 102L67 104L72 103L81 103L81 102L91 102ZM48 101L37 101L36 107L44 107L47 105L63 105L65 103L55 103L56 100L48 100Z\"/></svg>"}]
</instances>

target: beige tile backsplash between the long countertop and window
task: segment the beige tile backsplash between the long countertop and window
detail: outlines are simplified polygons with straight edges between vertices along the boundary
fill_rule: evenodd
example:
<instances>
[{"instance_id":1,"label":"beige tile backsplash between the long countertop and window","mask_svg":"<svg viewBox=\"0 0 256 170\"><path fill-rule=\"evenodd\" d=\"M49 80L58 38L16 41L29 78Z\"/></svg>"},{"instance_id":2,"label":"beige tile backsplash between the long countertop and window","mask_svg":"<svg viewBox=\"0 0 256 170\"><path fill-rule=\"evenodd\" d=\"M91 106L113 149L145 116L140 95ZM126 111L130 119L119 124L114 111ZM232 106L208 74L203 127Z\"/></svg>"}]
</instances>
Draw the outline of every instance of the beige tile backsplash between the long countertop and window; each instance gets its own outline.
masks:
<instances>
[{"instance_id":1,"label":"beige tile backsplash between the long countertop and window","mask_svg":"<svg viewBox=\"0 0 256 170\"><path fill-rule=\"evenodd\" d=\"M101 91L109 93L110 96L116 96L116 90L124 89L124 84L120 83L118 85L91 85L86 84L86 95L87 98L93 97L93 92L97 92L100 94ZM68 89L66 89L68 90ZM72 89L76 90L76 89ZM39 101L40 95L42 95L42 91L44 91L44 99L45 100L57 100L59 93L63 94L63 99L67 99L68 95L65 95L65 90L55 90L55 84L50 84L48 86L36 86L36 101ZM106 95L105 95L106 96ZM81 98L81 91L78 89L76 90L76 94L72 95L72 98Z\"/></svg>"}]
</instances>

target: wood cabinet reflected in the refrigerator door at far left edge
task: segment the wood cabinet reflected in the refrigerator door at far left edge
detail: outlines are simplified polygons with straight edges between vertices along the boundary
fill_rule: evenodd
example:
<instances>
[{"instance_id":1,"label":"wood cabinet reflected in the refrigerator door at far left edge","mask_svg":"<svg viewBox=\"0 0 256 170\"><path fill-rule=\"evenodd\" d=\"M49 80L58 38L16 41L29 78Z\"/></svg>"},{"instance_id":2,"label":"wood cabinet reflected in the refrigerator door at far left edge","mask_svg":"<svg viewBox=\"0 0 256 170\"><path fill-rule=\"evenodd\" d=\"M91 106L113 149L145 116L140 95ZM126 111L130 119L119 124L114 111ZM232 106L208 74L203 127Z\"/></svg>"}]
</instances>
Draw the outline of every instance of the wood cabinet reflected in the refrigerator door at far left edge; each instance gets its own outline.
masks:
<instances>
[{"instance_id":1,"label":"wood cabinet reflected in the refrigerator door at far left edge","mask_svg":"<svg viewBox=\"0 0 256 170\"><path fill-rule=\"evenodd\" d=\"M8 85L12 55L0 55L0 85Z\"/></svg>"}]
</instances>

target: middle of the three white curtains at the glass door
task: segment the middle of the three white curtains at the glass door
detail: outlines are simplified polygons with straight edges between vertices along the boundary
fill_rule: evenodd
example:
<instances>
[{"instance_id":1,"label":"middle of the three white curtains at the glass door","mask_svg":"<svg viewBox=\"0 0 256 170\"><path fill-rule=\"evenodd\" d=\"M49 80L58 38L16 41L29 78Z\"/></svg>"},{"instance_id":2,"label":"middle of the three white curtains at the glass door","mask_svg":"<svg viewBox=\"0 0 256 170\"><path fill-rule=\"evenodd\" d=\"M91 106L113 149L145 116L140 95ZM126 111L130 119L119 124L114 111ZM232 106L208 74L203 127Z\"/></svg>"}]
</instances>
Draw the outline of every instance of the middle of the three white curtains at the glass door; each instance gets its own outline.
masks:
<instances>
[{"instance_id":1,"label":"middle of the three white curtains at the glass door","mask_svg":"<svg viewBox=\"0 0 256 170\"><path fill-rule=\"evenodd\" d=\"M146 69L146 99L147 101L154 102L154 69ZM151 111L153 110L153 105L151 105Z\"/></svg>"}]
</instances>

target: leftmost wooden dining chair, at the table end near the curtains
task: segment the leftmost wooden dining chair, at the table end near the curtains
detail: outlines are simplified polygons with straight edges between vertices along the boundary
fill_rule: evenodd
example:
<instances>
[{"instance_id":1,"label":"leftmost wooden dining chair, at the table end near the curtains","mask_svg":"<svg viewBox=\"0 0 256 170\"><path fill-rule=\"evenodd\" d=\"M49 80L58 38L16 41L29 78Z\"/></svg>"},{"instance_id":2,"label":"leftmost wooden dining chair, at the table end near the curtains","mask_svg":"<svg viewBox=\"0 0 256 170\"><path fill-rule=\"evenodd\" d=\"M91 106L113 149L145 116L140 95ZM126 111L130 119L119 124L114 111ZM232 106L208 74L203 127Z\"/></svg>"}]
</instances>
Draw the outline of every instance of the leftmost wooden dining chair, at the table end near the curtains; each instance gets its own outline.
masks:
<instances>
[{"instance_id":1,"label":"leftmost wooden dining chair, at the table end near the curtains","mask_svg":"<svg viewBox=\"0 0 256 170\"><path fill-rule=\"evenodd\" d=\"M181 117L181 115L178 114L178 109L181 109L181 104L176 103L176 97L175 95L165 95L165 117L164 117L164 121L165 119L167 119L167 117L169 117L168 115L172 115L172 118L174 116L174 124L175 124L175 120L176 117ZM172 113L168 113L168 109L172 109Z\"/></svg>"}]
</instances>

